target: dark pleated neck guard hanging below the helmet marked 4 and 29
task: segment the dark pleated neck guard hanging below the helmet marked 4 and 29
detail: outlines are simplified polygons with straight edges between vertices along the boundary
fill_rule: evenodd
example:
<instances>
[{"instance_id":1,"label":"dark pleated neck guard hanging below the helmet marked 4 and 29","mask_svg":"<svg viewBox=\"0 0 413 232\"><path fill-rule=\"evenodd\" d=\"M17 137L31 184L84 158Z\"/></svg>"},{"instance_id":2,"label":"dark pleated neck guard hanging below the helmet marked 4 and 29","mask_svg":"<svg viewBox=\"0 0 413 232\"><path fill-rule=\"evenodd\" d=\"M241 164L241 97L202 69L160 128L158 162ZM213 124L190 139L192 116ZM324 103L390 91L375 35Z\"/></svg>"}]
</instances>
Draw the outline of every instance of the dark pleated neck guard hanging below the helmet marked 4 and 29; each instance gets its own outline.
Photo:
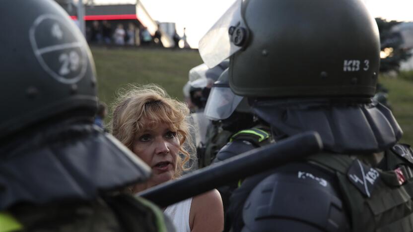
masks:
<instances>
[{"instance_id":1,"label":"dark pleated neck guard hanging below the helmet marked 4 and 29","mask_svg":"<svg viewBox=\"0 0 413 232\"><path fill-rule=\"evenodd\" d=\"M70 136L76 132L83 134ZM50 142L43 133L36 134L27 147L13 150L10 159L2 160L0 210L21 201L45 204L56 199L93 199L100 191L120 189L150 176L143 161L96 126L70 125L57 135Z\"/></svg>"}]
</instances>

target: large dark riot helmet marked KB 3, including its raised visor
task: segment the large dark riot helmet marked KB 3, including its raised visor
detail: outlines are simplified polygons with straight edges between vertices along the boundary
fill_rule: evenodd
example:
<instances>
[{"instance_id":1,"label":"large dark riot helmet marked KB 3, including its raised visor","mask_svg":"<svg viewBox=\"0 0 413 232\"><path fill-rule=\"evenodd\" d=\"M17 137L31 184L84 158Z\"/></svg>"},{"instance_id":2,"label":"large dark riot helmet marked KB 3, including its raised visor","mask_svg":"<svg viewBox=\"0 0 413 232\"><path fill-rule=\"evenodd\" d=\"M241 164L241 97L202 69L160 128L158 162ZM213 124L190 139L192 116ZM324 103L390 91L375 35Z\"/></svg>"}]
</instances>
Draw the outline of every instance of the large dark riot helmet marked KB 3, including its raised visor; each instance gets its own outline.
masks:
<instances>
[{"instance_id":1,"label":"large dark riot helmet marked KB 3, including its raised visor","mask_svg":"<svg viewBox=\"0 0 413 232\"><path fill-rule=\"evenodd\" d=\"M360 0L237 0L199 44L208 66L230 57L248 97L374 95L377 24Z\"/></svg>"}]
</instances>

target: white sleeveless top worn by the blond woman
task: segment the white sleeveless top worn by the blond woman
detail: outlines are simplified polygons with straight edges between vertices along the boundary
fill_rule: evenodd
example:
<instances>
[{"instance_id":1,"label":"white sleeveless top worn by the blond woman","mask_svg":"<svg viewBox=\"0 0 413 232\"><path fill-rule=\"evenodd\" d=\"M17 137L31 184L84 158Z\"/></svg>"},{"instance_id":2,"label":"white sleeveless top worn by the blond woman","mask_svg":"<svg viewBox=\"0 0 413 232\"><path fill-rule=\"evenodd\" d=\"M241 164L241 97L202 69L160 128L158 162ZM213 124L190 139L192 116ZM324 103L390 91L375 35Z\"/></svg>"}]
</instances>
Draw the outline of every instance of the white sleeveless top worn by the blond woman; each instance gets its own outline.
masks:
<instances>
[{"instance_id":1,"label":"white sleeveless top worn by the blond woman","mask_svg":"<svg viewBox=\"0 0 413 232\"><path fill-rule=\"evenodd\" d=\"M189 211L191 210L192 197L168 206L164 214L174 224L176 232L191 232L189 227Z\"/></svg>"}]
</instances>

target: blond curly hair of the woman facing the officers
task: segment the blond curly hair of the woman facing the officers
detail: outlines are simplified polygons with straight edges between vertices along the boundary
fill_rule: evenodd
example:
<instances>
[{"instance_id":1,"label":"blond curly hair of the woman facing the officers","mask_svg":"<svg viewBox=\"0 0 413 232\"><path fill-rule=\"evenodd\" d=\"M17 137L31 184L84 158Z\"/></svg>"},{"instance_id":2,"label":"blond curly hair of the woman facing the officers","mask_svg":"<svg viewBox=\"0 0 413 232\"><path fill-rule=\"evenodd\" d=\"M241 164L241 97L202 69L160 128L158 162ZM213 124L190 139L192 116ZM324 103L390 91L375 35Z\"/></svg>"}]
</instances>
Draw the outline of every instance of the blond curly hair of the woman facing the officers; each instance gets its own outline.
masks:
<instances>
[{"instance_id":1,"label":"blond curly hair of the woman facing the officers","mask_svg":"<svg viewBox=\"0 0 413 232\"><path fill-rule=\"evenodd\" d=\"M171 130L177 132L181 144L173 178L188 170L185 164L192 158L188 150L194 149L189 133L190 125L187 122L190 114L188 106L172 99L164 89L155 84L129 85L128 88L119 90L118 95L112 107L113 136L132 150L135 134L145 130L146 126L169 124ZM149 125L143 124L142 119L148 119Z\"/></svg>"}]
</instances>

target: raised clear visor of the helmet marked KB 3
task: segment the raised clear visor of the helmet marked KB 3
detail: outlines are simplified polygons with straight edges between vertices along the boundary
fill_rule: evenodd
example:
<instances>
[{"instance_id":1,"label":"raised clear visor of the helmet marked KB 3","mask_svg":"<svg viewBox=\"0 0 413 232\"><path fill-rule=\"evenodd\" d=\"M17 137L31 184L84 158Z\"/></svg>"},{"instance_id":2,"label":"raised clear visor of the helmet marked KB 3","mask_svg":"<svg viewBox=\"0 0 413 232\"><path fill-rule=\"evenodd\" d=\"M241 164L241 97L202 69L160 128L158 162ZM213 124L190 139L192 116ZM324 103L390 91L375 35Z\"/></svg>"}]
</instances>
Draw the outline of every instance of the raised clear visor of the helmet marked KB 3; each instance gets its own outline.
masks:
<instances>
[{"instance_id":1,"label":"raised clear visor of the helmet marked KB 3","mask_svg":"<svg viewBox=\"0 0 413 232\"><path fill-rule=\"evenodd\" d=\"M242 0L236 0L200 40L199 52L208 67L216 66L242 48L231 42L229 34L230 28L245 25L241 4Z\"/></svg>"}]
</instances>

